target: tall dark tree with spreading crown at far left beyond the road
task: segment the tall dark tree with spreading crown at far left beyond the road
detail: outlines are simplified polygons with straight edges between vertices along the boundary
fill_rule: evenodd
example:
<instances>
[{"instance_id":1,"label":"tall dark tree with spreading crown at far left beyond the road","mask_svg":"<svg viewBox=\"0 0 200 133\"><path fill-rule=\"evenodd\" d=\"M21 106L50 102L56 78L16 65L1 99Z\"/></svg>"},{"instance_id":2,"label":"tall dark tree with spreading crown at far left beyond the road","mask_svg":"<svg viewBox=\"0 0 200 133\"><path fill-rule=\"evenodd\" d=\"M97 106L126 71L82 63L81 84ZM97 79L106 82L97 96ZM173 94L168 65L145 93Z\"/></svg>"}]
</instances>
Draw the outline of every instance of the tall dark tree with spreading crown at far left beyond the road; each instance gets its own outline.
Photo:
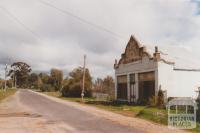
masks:
<instances>
[{"instance_id":1,"label":"tall dark tree with spreading crown at far left beyond the road","mask_svg":"<svg viewBox=\"0 0 200 133\"><path fill-rule=\"evenodd\" d=\"M19 87L27 87L27 80L31 67L25 62L15 62L11 65L12 69L9 71L8 76L16 77L16 84Z\"/></svg>"}]
</instances>

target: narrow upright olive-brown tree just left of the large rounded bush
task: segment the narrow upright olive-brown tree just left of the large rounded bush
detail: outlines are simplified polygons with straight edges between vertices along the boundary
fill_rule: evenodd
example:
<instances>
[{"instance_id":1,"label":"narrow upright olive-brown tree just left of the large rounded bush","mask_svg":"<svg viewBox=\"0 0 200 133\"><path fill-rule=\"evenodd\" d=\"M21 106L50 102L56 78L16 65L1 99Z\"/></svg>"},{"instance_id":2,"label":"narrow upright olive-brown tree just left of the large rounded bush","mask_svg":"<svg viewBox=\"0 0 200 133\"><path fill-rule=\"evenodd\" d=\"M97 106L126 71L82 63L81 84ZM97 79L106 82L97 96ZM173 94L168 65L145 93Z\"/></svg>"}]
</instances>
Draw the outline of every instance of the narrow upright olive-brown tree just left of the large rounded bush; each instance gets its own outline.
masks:
<instances>
[{"instance_id":1,"label":"narrow upright olive-brown tree just left of the large rounded bush","mask_svg":"<svg viewBox=\"0 0 200 133\"><path fill-rule=\"evenodd\" d=\"M62 88L63 72L58 69L51 69L51 85L56 91Z\"/></svg>"}]
</instances>

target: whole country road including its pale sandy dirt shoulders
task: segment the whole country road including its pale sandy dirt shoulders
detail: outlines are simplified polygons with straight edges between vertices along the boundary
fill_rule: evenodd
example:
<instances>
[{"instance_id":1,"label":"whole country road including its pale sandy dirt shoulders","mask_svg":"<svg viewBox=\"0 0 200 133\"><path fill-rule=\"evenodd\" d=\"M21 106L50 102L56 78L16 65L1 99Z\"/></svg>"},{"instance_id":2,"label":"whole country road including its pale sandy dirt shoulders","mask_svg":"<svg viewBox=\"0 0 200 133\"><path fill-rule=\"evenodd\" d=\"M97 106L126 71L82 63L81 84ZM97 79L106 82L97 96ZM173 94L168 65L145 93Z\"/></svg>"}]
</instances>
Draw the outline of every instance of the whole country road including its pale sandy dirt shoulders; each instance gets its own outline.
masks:
<instances>
[{"instance_id":1,"label":"whole country road including its pale sandy dirt shoulders","mask_svg":"<svg viewBox=\"0 0 200 133\"><path fill-rule=\"evenodd\" d=\"M0 102L0 133L183 133L30 90Z\"/></svg>"}]
</instances>

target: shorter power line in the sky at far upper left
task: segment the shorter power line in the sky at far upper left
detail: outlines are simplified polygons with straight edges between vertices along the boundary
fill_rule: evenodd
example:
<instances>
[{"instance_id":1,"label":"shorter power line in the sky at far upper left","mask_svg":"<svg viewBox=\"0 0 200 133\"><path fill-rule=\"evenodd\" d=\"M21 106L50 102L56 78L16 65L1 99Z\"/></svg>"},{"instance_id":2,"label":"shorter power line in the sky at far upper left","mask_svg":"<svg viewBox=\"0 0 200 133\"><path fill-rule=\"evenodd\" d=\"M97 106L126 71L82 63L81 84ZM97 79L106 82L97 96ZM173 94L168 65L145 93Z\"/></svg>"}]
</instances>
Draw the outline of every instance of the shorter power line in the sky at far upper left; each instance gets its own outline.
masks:
<instances>
[{"instance_id":1,"label":"shorter power line in the sky at far upper left","mask_svg":"<svg viewBox=\"0 0 200 133\"><path fill-rule=\"evenodd\" d=\"M28 26L26 26L20 19L18 19L15 15L13 15L10 11L8 11L6 8L0 6L0 8L6 13L8 14L15 22L17 22L18 24L20 24L25 30L27 30L28 32L30 32L34 37L36 37L37 39L40 40L40 36L35 33L33 30L31 30Z\"/></svg>"}]
</instances>

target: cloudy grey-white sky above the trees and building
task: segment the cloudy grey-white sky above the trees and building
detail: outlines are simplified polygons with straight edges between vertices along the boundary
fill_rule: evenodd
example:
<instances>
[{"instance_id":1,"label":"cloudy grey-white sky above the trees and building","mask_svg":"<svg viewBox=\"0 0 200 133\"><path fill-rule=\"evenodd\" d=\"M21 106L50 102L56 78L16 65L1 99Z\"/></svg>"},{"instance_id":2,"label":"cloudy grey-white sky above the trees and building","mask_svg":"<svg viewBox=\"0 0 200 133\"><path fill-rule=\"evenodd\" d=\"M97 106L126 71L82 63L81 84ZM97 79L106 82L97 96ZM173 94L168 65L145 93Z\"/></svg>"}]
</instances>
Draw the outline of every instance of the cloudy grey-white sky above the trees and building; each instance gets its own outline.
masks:
<instances>
[{"instance_id":1,"label":"cloudy grey-white sky above the trees and building","mask_svg":"<svg viewBox=\"0 0 200 133\"><path fill-rule=\"evenodd\" d=\"M87 54L93 77L113 75L131 34L200 55L200 1L0 0L0 74L13 61L67 73Z\"/></svg>"}]
</instances>

